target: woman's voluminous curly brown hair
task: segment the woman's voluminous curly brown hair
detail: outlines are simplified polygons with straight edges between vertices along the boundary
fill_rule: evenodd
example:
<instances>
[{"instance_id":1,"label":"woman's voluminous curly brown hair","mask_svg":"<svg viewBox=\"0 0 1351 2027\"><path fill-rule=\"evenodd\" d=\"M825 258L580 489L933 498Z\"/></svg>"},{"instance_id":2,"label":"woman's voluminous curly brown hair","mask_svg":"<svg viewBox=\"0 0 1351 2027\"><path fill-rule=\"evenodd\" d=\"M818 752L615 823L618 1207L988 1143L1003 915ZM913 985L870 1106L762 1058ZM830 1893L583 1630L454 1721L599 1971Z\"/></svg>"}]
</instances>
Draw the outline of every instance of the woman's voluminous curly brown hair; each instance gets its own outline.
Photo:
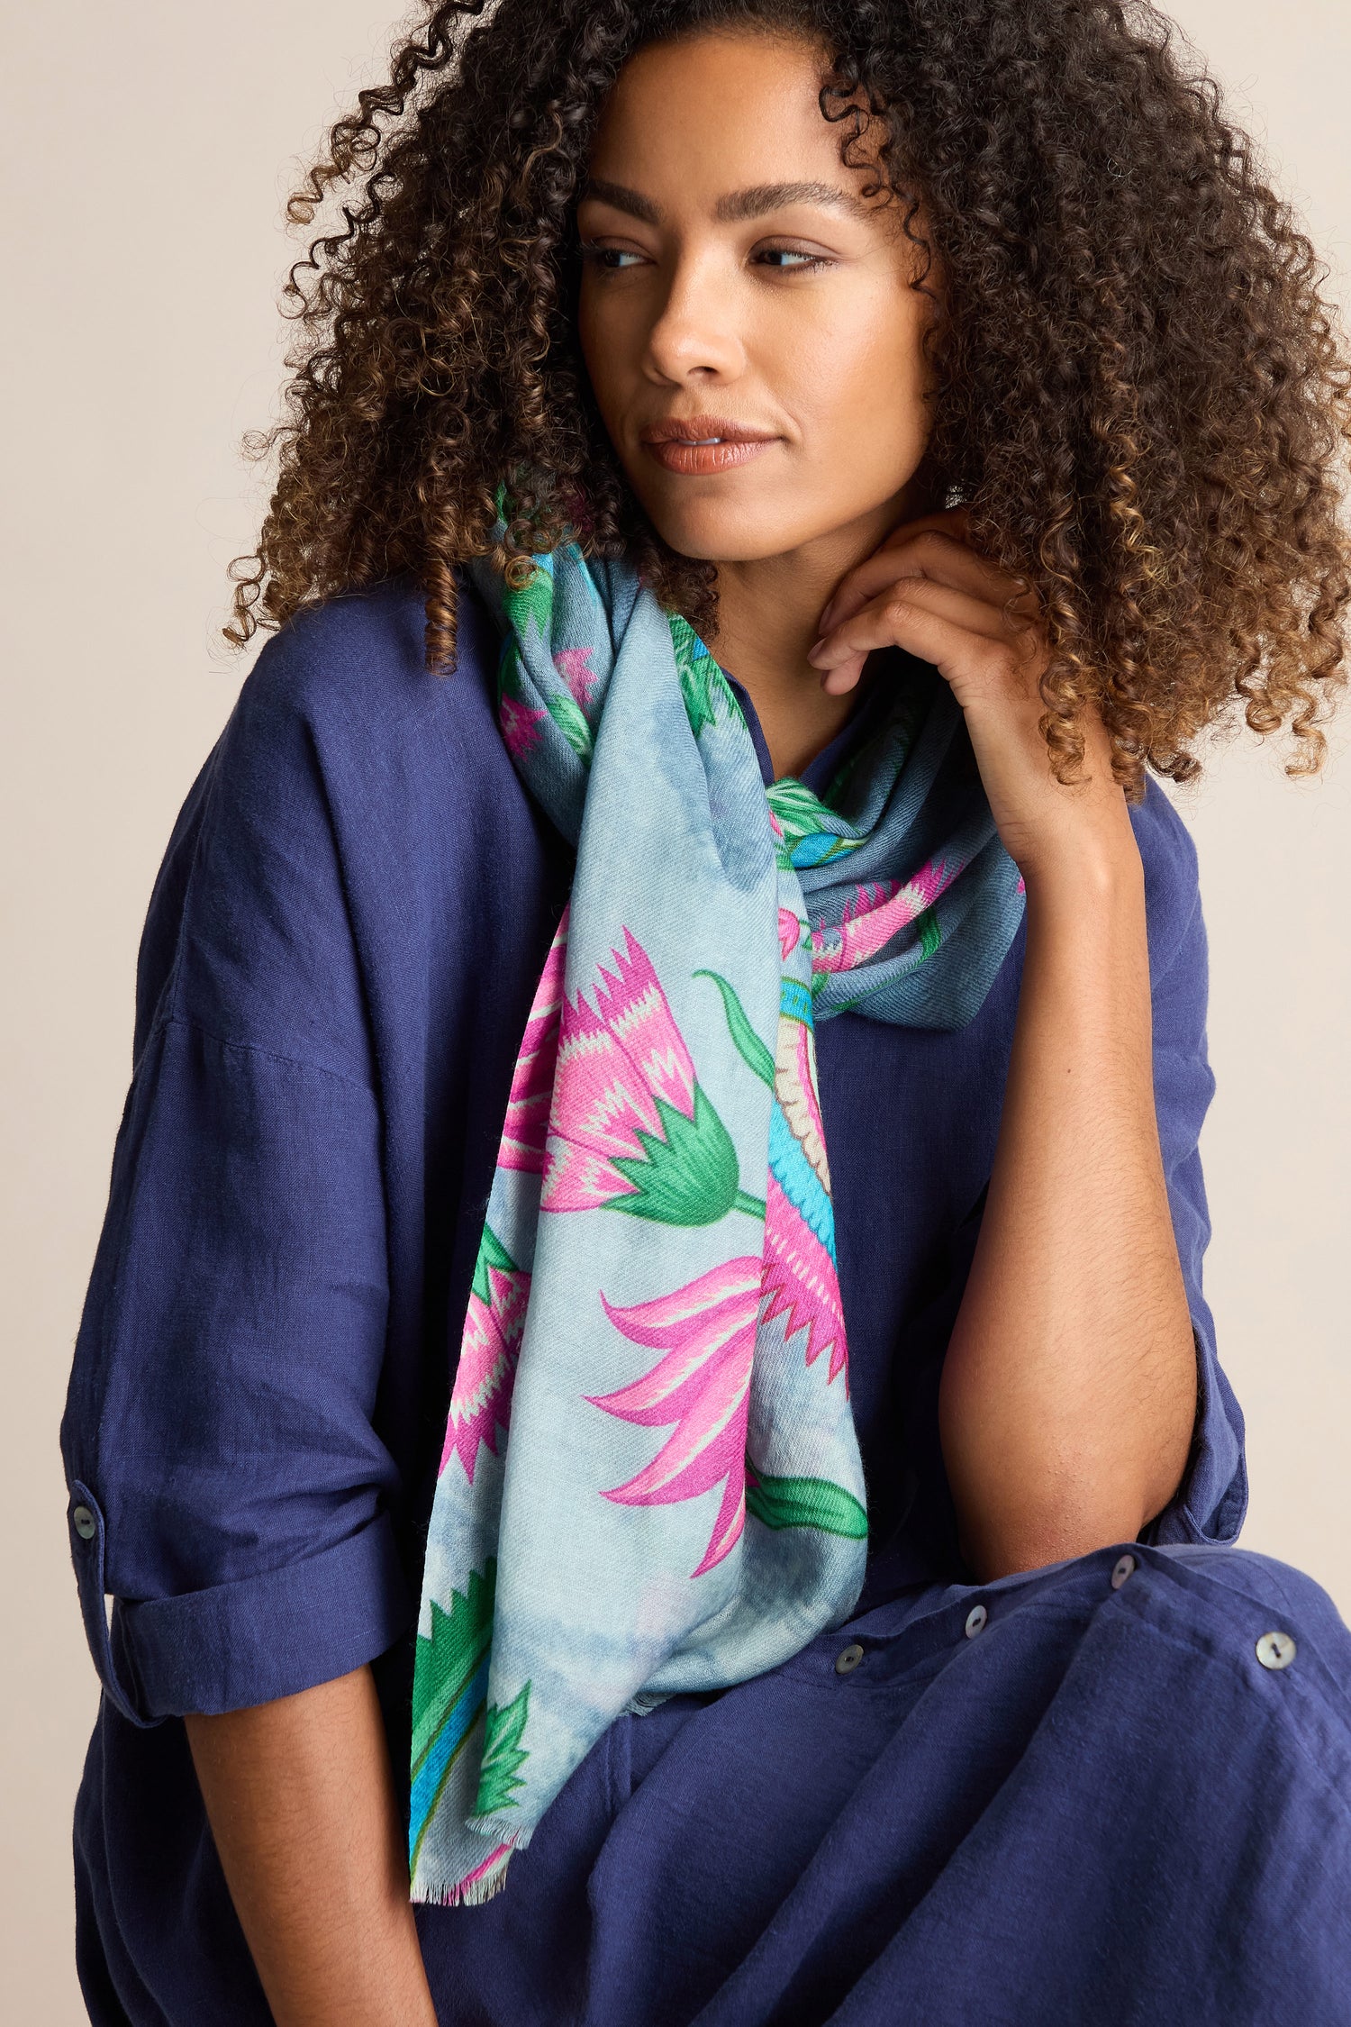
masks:
<instances>
[{"instance_id":1,"label":"woman's voluminous curly brown hair","mask_svg":"<svg viewBox=\"0 0 1351 2027\"><path fill-rule=\"evenodd\" d=\"M606 95L642 45L760 24L822 51L853 160L942 272L928 452L972 539L1047 620L1061 778L1098 705L1128 791L1197 772L1242 705L1323 760L1351 594L1339 525L1351 375L1325 272L1177 30L1128 0L448 0L338 120L292 197L342 225L292 268L302 330L237 645L391 576L454 665L456 570L512 582L569 533L628 549L713 636L715 570L634 501L575 339L575 199ZM928 261L922 259L926 270ZM924 288L924 274L916 286ZM502 482L512 521L494 551Z\"/></svg>"}]
</instances>

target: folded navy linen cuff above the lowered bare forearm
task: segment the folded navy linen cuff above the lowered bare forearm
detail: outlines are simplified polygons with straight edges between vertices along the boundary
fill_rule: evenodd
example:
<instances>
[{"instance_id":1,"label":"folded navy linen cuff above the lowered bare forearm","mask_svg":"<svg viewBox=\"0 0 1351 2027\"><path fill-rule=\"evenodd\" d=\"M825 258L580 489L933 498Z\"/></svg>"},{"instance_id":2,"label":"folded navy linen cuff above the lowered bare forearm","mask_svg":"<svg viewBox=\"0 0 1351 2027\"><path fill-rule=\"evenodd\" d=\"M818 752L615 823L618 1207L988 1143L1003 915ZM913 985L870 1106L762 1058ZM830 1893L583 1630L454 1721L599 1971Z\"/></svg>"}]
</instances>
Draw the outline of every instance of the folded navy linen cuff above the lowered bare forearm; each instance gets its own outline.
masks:
<instances>
[{"instance_id":1,"label":"folded navy linen cuff above the lowered bare forearm","mask_svg":"<svg viewBox=\"0 0 1351 2027\"><path fill-rule=\"evenodd\" d=\"M330 1682L385 1654L413 1599L381 1514L359 1534L282 1569L180 1597L113 1605L117 1674L142 1723L241 1711Z\"/></svg>"}]
</instances>

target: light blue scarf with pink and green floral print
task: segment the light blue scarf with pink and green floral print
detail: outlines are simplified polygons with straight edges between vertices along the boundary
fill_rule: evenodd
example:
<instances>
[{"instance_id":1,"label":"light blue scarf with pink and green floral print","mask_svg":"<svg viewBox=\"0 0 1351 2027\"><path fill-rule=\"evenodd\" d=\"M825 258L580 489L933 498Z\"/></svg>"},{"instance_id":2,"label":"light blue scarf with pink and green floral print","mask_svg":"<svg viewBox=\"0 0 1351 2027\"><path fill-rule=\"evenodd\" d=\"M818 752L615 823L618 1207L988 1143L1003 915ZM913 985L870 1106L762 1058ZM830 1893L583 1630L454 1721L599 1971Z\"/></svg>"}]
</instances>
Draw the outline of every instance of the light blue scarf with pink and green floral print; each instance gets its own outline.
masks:
<instances>
[{"instance_id":1,"label":"light blue scarf with pink and green floral print","mask_svg":"<svg viewBox=\"0 0 1351 2027\"><path fill-rule=\"evenodd\" d=\"M824 799L766 791L707 647L569 545L498 718L575 841L516 1058L431 1510L411 1879L484 1901L622 1711L843 1624L867 1512L812 1024L958 1028L1023 908L918 663ZM954 764L956 762L956 764Z\"/></svg>"}]
</instances>

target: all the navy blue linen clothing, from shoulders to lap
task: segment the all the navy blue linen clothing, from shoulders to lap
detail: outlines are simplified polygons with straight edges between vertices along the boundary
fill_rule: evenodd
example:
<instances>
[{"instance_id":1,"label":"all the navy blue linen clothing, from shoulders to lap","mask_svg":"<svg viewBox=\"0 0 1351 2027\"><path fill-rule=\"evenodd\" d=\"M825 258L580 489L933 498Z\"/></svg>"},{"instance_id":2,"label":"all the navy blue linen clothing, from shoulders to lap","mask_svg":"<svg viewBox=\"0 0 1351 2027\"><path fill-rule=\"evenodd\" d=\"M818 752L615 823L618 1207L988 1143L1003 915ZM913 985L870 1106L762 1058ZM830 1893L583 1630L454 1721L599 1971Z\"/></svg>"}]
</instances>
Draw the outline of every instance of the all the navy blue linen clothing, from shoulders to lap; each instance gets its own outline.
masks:
<instances>
[{"instance_id":1,"label":"all the navy blue linen clothing, from shoulders to lap","mask_svg":"<svg viewBox=\"0 0 1351 2027\"><path fill-rule=\"evenodd\" d=\"M407 1768L452 1346L571 874L496 732L494 661L468 592L450 679L423 669L409 586L290 626L154 890L63 1425L103 1680L75 1818L95 2027L269 2019L182 1713L375 1662ZM1120 1551L972 1583L936 1395L1023 943L954 1034L828 1022L859 1616L735 1691L620 1719L496 1901L421 1907L444 2023L1351 2021L1351 1638L1308 1579L1227 1547L1246 1480L1201 1295L1195 855L1155 789L1134 827L1201 1380L1177 1498L1120 1587ZM1272 1628L1296 1640L1280 1672L1256 1660Z\"/></svg>"}]
</instances>

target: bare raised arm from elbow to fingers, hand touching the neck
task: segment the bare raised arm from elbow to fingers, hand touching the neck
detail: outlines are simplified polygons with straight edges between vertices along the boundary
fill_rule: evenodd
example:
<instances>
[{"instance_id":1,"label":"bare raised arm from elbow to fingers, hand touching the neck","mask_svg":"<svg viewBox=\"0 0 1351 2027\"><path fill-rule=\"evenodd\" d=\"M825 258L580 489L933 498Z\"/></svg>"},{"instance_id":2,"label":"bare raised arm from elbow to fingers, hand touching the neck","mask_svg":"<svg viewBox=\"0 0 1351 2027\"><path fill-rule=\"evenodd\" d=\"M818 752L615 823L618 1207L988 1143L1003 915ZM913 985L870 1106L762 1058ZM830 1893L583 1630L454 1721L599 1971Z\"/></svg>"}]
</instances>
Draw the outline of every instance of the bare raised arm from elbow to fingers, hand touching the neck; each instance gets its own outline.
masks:
<instances>
[{"instance_id":1,"label":"bare raised arm from elbow to fingers, hand touching the neck","mask_svg":"<svg viewBox=\"0 0 1351 2027\"><path fill-rule=\"evenodd\" d=\"M895 529L839 586L808 661L932 661L1027 884L1027 955L999 1147L940 1388L962 1545L1001 1575L1130 1538L1173 1496L1195 1350L1155 1119L1144 882L1102 716L1049 764L1053 643L962 509ZM1063 728L1061 728L1063 730Z\"/></svg>"}]
</instances>

